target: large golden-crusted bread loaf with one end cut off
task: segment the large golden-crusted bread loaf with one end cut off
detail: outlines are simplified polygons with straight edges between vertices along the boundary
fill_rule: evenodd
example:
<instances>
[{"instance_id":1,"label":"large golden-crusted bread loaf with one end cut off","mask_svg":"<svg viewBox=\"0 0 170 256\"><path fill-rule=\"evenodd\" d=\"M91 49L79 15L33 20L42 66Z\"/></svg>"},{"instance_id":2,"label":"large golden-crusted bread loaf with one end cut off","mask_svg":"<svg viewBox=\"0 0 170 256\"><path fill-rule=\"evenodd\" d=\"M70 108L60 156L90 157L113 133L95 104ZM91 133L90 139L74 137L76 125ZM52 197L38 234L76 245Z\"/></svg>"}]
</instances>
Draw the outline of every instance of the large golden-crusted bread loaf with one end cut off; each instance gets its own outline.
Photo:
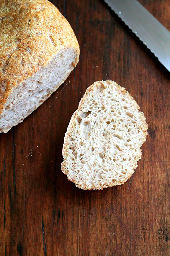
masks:
<instances>
[{"instance_id":1,"label":"large golden-crusted bread loaf with one end cut off","mask_svg":"<svg viewBox=\"0 0 170 256\"><path fill-rule=\"evenodd\" d=\"M8 132L66 80L79 44L47 0L0 0L0 31L0 132Z\"/></svg>"}]
</instances>

